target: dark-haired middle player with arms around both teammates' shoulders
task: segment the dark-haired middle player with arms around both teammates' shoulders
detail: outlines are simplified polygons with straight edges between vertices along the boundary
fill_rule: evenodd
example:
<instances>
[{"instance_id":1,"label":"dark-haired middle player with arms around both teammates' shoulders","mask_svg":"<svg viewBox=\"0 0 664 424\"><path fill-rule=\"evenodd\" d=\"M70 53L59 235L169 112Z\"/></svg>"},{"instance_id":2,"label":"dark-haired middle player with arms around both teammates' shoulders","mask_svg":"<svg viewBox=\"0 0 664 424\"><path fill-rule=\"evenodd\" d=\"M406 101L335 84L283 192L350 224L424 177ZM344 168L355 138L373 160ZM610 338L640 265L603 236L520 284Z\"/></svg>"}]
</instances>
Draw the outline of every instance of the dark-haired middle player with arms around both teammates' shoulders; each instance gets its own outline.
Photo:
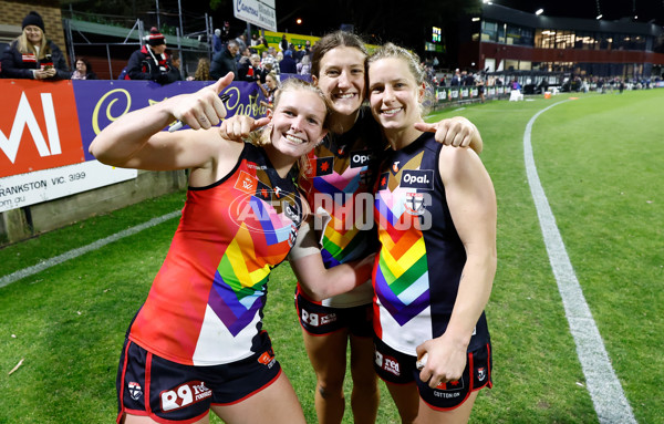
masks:
<instances>
[{"instance_id":1,"label":"dark-haired middle player with arms around both teammates' shoulders","mask_svg":"<svg viewBox=\"0 0 664 424\"><path fill-rule=\"evenodd\" d=\"M318 269L326 269L359 260L376 248L375 232L367 227L362 200L371 195L380 156L385 148L380 127L366 99L365 61L367 52L357 35L336 31L319 40L313 49L311 74L325 93L332 107L330 132L323 143L310 153L309 173L301 178L318 225L312 221L310 240L291 254L291 267L298 280L295 304L302 335L317 374L315 409L319 423L341 423L345 400L343 381L346 349L351 348L353 389L351 407L355 423L374 423L378 405L376 375L372 369L373 289L367 281L341 296L322 289L311 291L321 279ZM225 121L225 132L239 137L256 123L246 116ZM483 142L468 120L456 117L435 124L417 122L422 131L433 132L436 141L454 146L468 146L478 152ZM371 207L371 206L370 206ZM349 213L350 211L350 213ZM367 225L369 224L369 225ZM300 247L305 247L300 249Z\"/></svg>"}]
</instances>

